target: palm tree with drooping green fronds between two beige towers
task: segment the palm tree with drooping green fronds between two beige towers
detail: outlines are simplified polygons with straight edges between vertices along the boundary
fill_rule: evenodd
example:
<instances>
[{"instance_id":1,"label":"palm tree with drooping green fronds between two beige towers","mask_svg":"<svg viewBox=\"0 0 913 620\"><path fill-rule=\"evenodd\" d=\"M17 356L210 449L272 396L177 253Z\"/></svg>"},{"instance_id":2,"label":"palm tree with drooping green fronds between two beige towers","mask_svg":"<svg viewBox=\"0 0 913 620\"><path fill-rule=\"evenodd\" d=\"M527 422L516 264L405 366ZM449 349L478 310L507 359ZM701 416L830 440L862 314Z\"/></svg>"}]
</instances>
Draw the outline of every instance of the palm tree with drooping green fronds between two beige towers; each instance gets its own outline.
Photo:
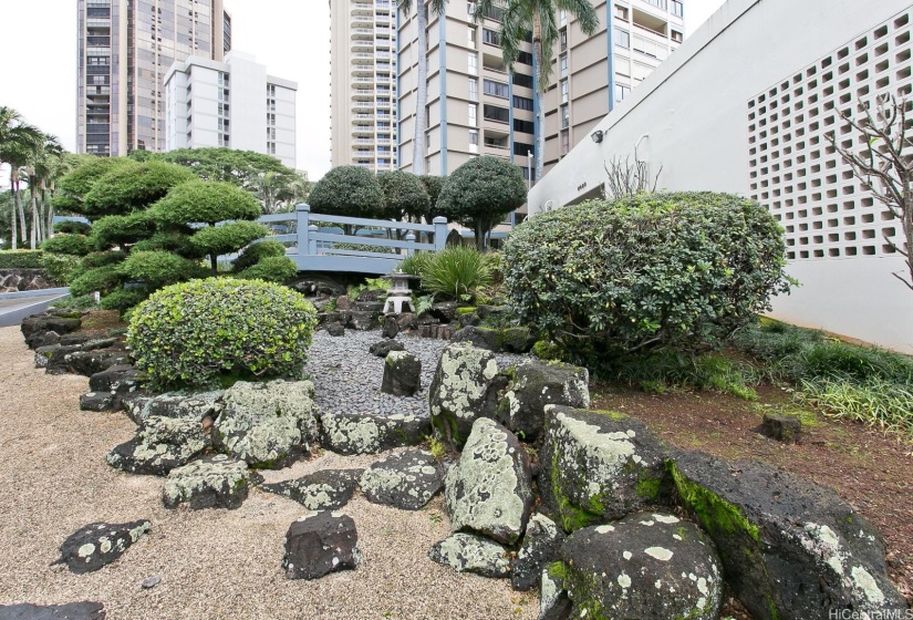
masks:
<instances>
[{"instance_id":1,"label":"palm tree with drooping green fronds between two beige towers","mask_svg":"<svg viewBox=\"0 0 913 620\"><path fill-rule=\"evenodd\" d=\"M532 31L532 62L537 71L536 115L539 128L536 135L536 179L542 178L546 152L544 99L551 84L552 58L558 42L556 13L567 11L577 18L580 30L588 37L599 28L599 16L590 0L509 0L507 7L499 0L478 0L476 21L480 21L496 8L504 8L501 21L501 52L505 64L513 72L527 33Z\"/></svg>"}]
</instances>

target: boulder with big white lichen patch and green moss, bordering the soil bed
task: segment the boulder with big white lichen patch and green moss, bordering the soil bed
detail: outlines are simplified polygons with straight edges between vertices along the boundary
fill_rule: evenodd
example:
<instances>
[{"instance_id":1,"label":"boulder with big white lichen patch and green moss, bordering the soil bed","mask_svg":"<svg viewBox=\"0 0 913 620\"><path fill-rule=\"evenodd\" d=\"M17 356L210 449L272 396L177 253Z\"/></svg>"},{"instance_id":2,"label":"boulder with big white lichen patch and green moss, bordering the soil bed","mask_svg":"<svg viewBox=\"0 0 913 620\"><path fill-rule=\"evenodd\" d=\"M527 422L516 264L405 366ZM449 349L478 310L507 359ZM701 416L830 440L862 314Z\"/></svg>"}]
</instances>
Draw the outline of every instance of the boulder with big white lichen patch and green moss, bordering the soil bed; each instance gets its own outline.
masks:
<instances>
[{"instance_id":1,"label":"boulder with big white lichen patch and green moss, bordering the soil bed","mask_svg":"<svg viewBox=\"0 0 913 620\"><path fill-rule=\"evenodd\" d=\"M668 502L666 446L634 417L547 405L543 503L567 531Z\"/></svg>"}]
</instances>

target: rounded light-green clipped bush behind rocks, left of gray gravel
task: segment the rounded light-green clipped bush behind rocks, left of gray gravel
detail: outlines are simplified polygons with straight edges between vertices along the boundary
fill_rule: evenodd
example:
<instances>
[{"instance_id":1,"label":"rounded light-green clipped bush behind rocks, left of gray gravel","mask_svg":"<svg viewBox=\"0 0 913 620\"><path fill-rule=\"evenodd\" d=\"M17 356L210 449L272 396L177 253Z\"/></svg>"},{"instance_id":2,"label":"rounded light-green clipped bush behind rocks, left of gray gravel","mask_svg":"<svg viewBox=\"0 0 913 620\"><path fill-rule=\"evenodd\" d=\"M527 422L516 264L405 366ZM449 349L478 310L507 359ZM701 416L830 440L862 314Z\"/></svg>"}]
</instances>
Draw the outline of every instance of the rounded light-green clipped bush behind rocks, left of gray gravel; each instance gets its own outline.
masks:
<instances>
[{"instance_id":1,"label":"rounded light-green clipped bush behind rocks, left of gray gravel","mask_svg":"<svg viewBox=\"0 0 913 620\"><path fill-rule=\"evenodd\" d=\"M299 293L258 280L173 285L133 312L127 344L155 388L226 378L301 375L317 311Z\"/></svg>"}]
</instances>

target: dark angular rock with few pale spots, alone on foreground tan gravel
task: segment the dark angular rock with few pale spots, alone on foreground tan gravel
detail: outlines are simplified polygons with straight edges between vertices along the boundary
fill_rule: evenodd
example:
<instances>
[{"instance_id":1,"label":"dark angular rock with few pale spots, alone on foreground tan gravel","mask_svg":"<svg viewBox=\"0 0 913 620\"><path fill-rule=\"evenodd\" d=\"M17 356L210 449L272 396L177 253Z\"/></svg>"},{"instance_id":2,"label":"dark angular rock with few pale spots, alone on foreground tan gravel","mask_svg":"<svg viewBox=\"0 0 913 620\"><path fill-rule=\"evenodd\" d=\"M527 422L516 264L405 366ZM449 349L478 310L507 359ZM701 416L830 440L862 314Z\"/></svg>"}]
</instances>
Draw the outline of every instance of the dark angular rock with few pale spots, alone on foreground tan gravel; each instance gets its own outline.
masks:
<instances>
[{"instance_id":1,"label":"dark angular rock with few pale spots, alone on foreground tan gravel","mask_svg":"<svg viewBox=\"0 0 913 620\"><path fill-rule=\"evenodd\" d=\"M282 568L289 579L318 579L361 561L359 533L352 517L315 513L294 521L286 534Z\"/></svg>"}]
</instances>

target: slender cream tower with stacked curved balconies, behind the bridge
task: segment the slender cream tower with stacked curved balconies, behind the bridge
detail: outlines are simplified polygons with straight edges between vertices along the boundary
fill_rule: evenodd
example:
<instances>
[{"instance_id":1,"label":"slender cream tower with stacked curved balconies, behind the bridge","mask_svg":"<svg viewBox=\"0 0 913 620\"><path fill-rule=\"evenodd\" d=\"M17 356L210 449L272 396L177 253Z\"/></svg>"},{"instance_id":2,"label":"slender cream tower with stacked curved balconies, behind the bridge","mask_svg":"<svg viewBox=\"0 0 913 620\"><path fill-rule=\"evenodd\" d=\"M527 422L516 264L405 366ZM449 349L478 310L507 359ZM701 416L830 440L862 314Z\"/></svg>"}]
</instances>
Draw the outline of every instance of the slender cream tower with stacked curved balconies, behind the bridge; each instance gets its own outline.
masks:
<instances>
[{"instance_id":1,"label":"slender cream tower with stacked curved balconies, behind the bridge","mask_svg":"<svg viewBox=\"0 0 913 620\"><path fill-rule=\"evenodd\" d=\"M396 2L330 0L333 166L396 164Z\"/></svg>"}]
</instances>

